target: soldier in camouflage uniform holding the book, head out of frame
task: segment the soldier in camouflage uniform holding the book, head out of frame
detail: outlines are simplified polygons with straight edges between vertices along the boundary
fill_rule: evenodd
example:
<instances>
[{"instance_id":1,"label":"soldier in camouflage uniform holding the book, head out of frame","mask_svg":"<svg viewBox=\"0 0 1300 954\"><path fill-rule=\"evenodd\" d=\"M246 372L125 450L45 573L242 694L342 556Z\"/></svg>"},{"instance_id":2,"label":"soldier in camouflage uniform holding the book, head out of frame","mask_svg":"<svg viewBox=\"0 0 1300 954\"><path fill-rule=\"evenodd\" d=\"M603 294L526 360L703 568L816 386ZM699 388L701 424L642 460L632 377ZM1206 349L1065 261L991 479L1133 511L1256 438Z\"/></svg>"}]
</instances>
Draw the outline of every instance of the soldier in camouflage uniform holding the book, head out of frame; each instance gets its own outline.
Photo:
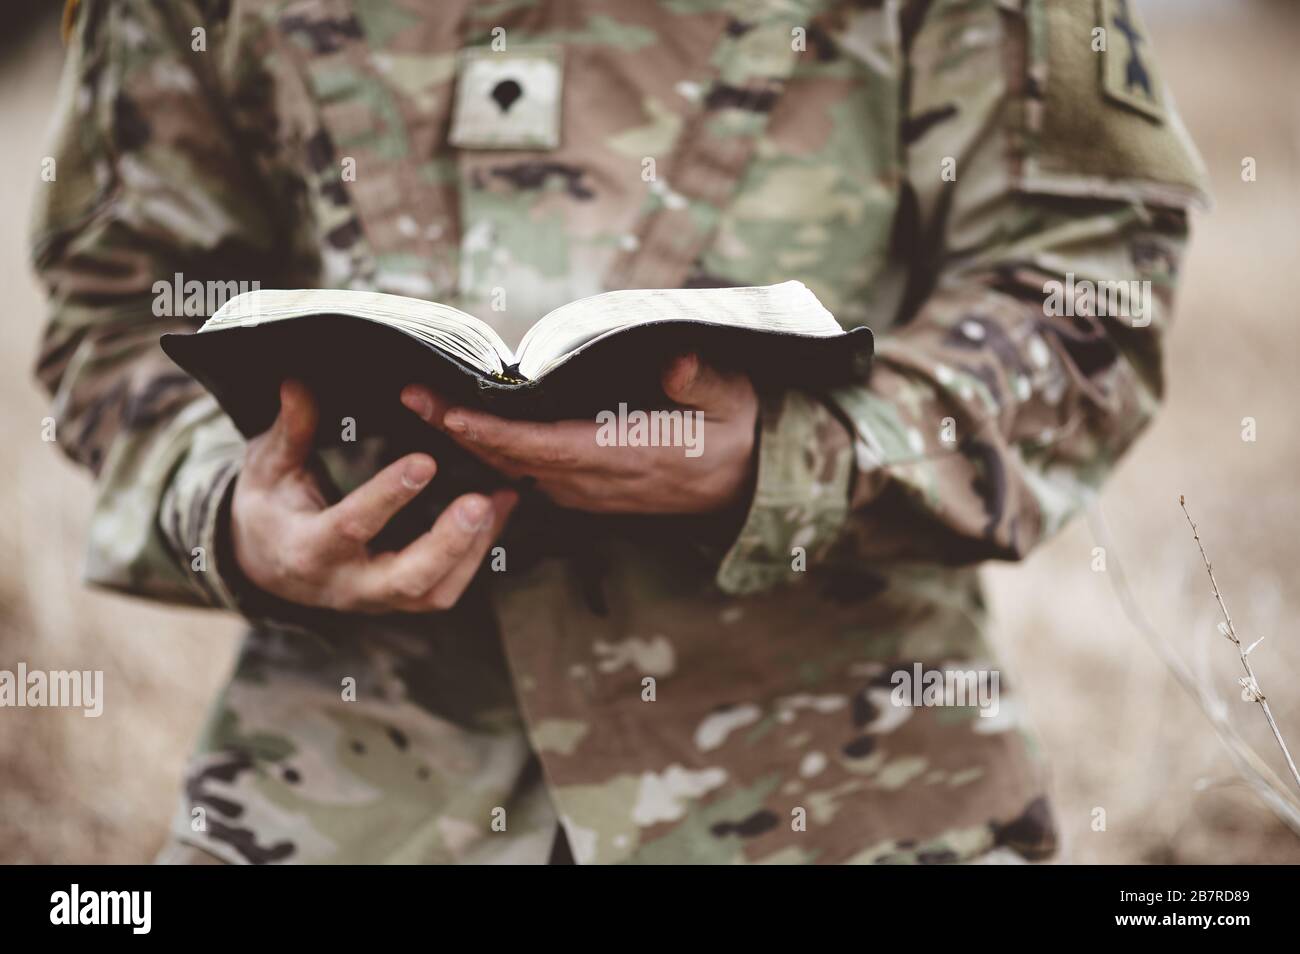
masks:
<instances>
[{"instance_id":1,"label":"soldier in camouflage uniform holding the book, head out of frame","mask_svg":"<svg viewBox=\"0 0 1300 954\"><path fill-rule=\"evenodd\" d=\"M164 860L1053 855L1011 680L993 717L894 690L1000 673L978 564L1061 528L1158 403L1202 170L1130 4L66 22L34 257L39 376L96 474L87 578L251 623ZM335 424L294 382L246 442L159 348L196 326L151 309L174 274L437 299L507 341L606 289L798 278L878 355L823 394L682 356L664 391L705 412L698 459L408 387L430 433L532 482L447 490L382 548L448 461L364 424L313 450ZM1145 307L1050 307L1105 282Z\"/></svg>"}]
</instances>

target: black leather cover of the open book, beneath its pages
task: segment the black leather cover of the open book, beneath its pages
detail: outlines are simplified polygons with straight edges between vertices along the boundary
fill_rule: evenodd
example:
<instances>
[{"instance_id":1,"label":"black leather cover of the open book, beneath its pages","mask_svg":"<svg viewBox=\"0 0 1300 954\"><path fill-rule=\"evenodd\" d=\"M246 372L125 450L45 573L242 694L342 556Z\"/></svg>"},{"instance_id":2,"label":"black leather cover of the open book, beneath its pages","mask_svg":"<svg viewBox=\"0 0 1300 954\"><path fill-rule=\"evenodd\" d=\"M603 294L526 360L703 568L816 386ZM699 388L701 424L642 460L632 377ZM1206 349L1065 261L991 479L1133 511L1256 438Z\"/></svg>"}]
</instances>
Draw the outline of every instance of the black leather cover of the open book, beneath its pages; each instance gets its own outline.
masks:
<instances>
[{"instance_id":1,"label":"black leather cover of the open book, beneath its pages","mask_svg":"<svg viewBox=\"0 0 1300 954\"><path fill-rule=\"evenodd\" d=\"M724 369L750 374L755 387L827 390L864 380L872 356L866 328L833 338L662 321L607 335L542 376L486 376L455 356L367 318L311 315L204 334L165 334L162 350L204 385L246 437L270 426L280 382L303 381L322 421L356 420L367 434L404 430L411 415L399 394L422 383L456 404L503 417L562 420L598 411L667 407L659 380L679 354L698 352ZM337 429L333 429L337 430ZM329 443L332 429L322 429Z\"/></svg>"}]
</instances>

